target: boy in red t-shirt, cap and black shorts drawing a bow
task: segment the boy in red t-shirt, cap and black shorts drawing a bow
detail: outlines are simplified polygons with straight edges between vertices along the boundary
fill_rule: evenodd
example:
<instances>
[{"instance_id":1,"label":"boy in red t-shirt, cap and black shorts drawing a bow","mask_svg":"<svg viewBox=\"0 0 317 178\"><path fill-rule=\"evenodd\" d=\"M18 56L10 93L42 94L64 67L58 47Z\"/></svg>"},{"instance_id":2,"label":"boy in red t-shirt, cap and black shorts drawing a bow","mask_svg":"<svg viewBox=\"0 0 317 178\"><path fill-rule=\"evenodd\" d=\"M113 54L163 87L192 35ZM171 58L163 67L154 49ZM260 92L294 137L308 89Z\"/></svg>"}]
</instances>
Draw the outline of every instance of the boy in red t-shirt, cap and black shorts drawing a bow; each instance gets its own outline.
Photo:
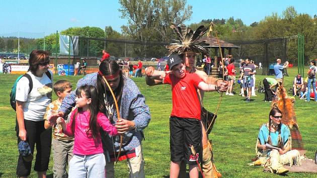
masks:
<instances>
[{"instance_id":1,"label":"boy in red t-shirt, cap and black shorts drawing a bow","mask_svg":"<svg viewBox=\"0 0 317 178\"><path fill-rule=\"evenodd\" d=\"M197 88L203 91L226 91L226 88L205 83L197 73L189 73L178 55L171 55L168 65L172 72L153 71L151 80L164 78L163 83L172 85L173 109L170 117L170 176L177 177L182 160L189 164L190 175L197 175L197 160L201 154L201 109ZM152 81L153 82L153 81ZM191 152L191 146L196 155Z\"/></svg>"}]
</instances>

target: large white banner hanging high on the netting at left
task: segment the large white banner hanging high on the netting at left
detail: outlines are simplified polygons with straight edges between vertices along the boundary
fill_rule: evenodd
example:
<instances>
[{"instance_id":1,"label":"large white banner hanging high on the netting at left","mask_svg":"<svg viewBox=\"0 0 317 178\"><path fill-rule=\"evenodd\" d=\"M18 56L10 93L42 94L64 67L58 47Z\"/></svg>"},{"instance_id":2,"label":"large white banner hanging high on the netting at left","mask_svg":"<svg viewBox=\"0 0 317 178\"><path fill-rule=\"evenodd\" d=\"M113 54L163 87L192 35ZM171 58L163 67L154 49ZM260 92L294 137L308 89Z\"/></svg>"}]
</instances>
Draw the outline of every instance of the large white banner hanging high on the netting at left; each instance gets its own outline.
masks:
<instances>
[{"instance_id":1,"label":"large white banner hanging high on the netting at left","mask_svg":"<svg viewBox=\"0 0 317 178\"><path fill-rule=\"evenodd\" d=\"M68 55L70 40L70 55L78 55L78 37L59 34L59 54Z\"/></svg>"}]
</instances>

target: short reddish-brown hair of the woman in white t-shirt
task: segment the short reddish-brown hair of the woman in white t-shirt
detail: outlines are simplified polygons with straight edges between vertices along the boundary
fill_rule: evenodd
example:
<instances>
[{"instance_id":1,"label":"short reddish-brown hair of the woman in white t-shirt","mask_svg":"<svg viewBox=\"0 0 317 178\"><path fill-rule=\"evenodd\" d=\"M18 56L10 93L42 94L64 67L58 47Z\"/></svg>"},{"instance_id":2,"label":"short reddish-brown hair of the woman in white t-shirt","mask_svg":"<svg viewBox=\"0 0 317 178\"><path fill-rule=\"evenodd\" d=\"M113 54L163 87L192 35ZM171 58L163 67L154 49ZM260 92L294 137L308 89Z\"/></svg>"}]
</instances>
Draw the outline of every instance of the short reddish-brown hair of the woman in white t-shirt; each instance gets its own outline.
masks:
<instances>
[{"instance_id":1,"label":"short reddish-brown hair of the woman in white t-shirt","mask_svg":"<svg viewBox=\"0 0 317 178\"><path fill-rule=\"evenodd\" d=\"M43 50L33 50L30 53L29 70L35 74L39 64L49 63L49 52Z\"/></svg>"}]
</instances>

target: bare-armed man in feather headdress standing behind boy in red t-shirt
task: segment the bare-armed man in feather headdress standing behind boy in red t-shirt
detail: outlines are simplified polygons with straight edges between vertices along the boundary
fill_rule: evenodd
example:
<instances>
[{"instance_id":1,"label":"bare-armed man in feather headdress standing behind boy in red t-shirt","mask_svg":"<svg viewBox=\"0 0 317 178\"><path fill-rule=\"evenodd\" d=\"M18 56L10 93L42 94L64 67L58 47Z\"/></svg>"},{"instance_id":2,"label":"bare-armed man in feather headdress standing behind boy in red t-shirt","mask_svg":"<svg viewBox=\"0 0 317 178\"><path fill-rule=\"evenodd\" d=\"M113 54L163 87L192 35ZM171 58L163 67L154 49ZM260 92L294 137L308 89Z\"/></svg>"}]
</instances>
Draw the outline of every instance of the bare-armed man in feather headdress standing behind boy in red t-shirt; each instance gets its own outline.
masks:
<instances>
[{"instance_id":1,"label":"bare-armed man in feather headdress standing behind boy in red t-shirt","mask_svg":"<svg viewBox=\"0 0 317 178\"><path fill-rule=\"evenodd\" d=\"M200 26L198 29L193 32L190 28L187 28L185 25L176 26L171 25L171 28L174 30L174 32L177 34L178 40L175 40L177 43L172 43L167 46L167 49L169 49L169 55L171 54L178 54L186 65L186 71L189 73L196 73L203 81L210 84L217 85L218 88L220 87L228 87L227 81L222 81L222 79L217 79L213 77L208 77L208 75L201 70L198 70L194 67L195 64L195 57L197 53L203 53L206 54L208 51L203 47L207 45L205 41L200 41L199 39L207 32L208 27ZM164 71L156 71L154 67L148 67L146 71L146 84L148 85L156 85L156 84L162 84L163 78L160 77L152 77L153 73L160 72L162 76L165 76L166 72ZM198 98L201 102L202 107L202 99L204 96L203 91L197 91ZM203 120L203 119L202 119ZM202 125L202 168L203 173L205 177L218 177L220 173L216 172L215 169L213 169L212 164L212 154L211 154L211 145L208 141L208 135L206 134L206 126L203 122L201 122ZM215 172L215 173L214 173ZM181 170L180 170L180 176L184 177L184 174L186 173L186 164L185 162L182 162Z\"/></svg>"}]
</instances>

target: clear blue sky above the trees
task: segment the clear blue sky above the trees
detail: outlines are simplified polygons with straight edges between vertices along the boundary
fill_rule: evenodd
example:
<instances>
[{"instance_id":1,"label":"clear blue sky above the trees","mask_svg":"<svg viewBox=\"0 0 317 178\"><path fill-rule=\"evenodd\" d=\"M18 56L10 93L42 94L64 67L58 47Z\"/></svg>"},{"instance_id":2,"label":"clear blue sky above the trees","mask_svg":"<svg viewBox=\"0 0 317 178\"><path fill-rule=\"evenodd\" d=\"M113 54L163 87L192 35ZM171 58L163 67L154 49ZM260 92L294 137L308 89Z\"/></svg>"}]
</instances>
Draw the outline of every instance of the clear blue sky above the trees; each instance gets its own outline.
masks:
<instances>
[{"instance_id":1,"label":"clear blue sky above the trees","mask_svg":"<svg viewBox=\"0 0 317 178\"><path fill-rule=\"evenodd\" d=\"M315 0L240 0L202 1L188 0L192 6L192 17L185 22L199 23L203 19L241 19L250 25L270 16L282 15L289 6L297 13L313 17L317 14ZM41 38L69 27L111 26L121 33L120 27L127 25L118 11L121 5L115 0L0 0L0 36Z\"/></svg>"}]
</instances>

